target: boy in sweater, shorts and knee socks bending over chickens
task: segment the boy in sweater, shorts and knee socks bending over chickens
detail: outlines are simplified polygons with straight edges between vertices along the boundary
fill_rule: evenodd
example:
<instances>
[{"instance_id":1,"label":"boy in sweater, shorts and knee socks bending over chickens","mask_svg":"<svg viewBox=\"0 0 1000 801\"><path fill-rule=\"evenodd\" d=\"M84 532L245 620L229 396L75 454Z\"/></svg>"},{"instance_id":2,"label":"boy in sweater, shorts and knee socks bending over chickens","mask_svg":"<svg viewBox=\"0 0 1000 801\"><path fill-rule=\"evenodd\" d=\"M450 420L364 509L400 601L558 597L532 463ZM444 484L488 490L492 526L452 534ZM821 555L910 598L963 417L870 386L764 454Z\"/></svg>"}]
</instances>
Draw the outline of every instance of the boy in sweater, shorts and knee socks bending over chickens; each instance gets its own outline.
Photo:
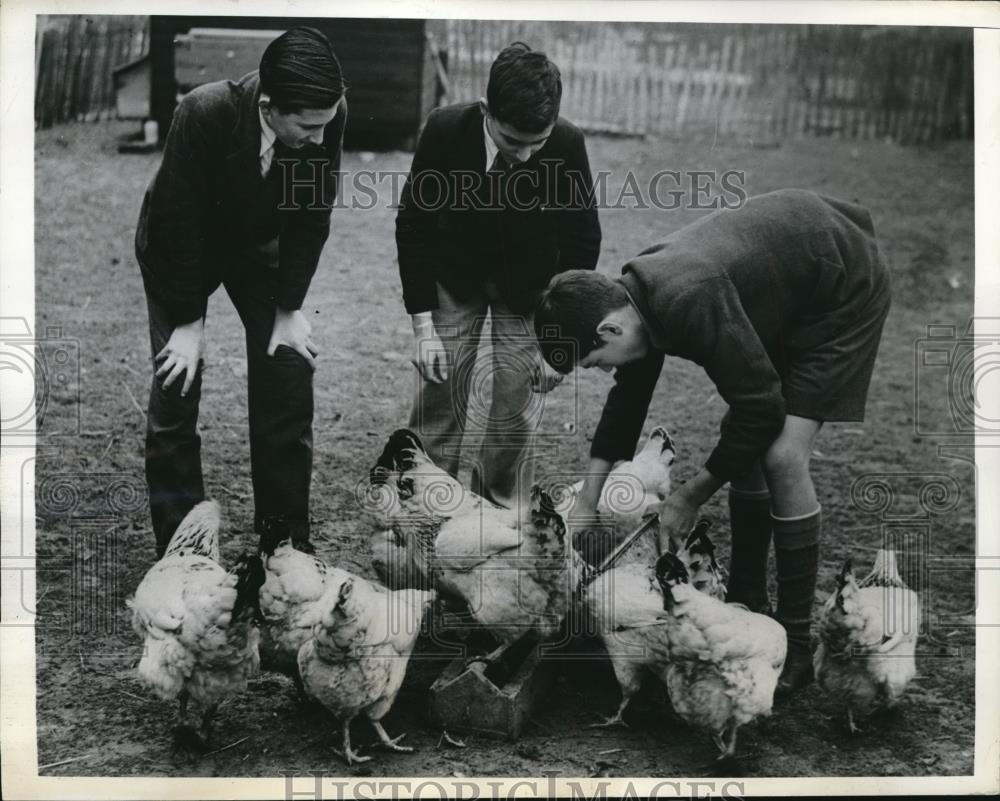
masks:
<instances>
[{"instance_id":1,"label":"boy in sweater, shorts and knee socks bending over chickens","mask_svg":"<svg viewBox=\"0 0 1000 801\"><path fill-rule=\"evenodd\" d=\"M685 535L698 508L729 482L727 600L768 611L773 531L776 617L788 633L782 694L812 680L820 534L813 440L824 421L864 419L888 311L888 275L868 212L783 190L682 228L626 264L617 281L557 276L535 315L556 369L618 368L578 517L595 514L613 462L631 458L665 354L704 367L729 404L704 469L664 504L661 547ZM575 343L575 355L556 332Z\"/></svg>"}]
</instances>

